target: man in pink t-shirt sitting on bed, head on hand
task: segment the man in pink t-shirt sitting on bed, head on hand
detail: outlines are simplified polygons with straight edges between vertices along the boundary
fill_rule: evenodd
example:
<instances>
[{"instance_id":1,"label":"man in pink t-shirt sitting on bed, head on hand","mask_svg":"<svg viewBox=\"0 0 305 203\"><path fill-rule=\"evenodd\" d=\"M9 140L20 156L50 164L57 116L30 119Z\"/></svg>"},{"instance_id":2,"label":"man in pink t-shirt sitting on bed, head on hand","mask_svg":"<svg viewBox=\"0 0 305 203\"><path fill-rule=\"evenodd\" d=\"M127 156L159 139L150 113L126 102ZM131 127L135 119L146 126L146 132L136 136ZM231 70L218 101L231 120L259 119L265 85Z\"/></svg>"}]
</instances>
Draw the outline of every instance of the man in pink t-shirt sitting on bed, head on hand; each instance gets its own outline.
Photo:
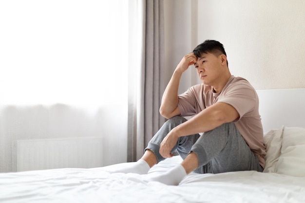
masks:
<instances>
[{"instance_id":1,"label":"man in pink t-shirt sitting on bed, head on hand","mask_svg":"<svg viewBox=\"0 0 305 203\"><path fill-rule=\"evenodd\" d=\"M182 74L194 65L202 84L178 95ZM114 172L146 174L176 150L183 162L152 177L178 185L190 172L263 171L266 148L258 96L241 77L229 72L223 45L206 40L177 65L163 94L160 113L169 119L149 142L142 158ZM186 120L182 116L192 116Z\"/></svg>"}]
</instances>

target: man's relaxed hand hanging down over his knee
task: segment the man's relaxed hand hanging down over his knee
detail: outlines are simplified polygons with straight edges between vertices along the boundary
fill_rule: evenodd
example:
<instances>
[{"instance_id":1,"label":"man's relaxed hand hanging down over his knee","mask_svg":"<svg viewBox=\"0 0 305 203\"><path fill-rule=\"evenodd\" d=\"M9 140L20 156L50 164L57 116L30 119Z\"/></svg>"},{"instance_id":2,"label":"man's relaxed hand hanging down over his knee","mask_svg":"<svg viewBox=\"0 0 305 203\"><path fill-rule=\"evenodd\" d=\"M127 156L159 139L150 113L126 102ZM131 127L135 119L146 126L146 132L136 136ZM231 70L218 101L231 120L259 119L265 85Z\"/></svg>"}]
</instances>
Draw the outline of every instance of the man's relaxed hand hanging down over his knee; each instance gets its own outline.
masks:
<instances>
[{"instance_id":1,"label":"man's relaxed hand hanging down over his knee","mask_svg":"<svg viewBox=\"0 0 305 203\"><path fill-rule=\"evenodd\" d=\"M172 148L176 145L178 141L178 136L172 129L160 144L160 154L163 158L171 158L173 155L171 153Z\"/></svg>"}]
</instances>

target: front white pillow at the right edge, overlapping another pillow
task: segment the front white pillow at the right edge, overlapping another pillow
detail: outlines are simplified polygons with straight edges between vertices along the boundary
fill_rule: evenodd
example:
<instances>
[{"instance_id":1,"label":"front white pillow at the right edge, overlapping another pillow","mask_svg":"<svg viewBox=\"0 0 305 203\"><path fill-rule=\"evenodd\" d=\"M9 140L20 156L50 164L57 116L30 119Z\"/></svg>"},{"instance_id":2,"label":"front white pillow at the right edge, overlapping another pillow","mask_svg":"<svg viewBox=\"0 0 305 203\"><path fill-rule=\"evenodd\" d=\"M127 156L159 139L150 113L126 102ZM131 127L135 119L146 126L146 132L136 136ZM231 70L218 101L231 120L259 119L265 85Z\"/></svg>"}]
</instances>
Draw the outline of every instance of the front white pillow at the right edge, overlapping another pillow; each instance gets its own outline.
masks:
<instances>
[{"instance_id":1,"label":"front white pillow at the right edge, overlapping another pillow","mask_svg":"<svg viewBox=\"0 0 305 203\"><path fill-rule=\"evenodd\" d=\"M305 176L305 129L285 127L282 149L276 172L291 176Z\"/></svg>"}]
</instances>

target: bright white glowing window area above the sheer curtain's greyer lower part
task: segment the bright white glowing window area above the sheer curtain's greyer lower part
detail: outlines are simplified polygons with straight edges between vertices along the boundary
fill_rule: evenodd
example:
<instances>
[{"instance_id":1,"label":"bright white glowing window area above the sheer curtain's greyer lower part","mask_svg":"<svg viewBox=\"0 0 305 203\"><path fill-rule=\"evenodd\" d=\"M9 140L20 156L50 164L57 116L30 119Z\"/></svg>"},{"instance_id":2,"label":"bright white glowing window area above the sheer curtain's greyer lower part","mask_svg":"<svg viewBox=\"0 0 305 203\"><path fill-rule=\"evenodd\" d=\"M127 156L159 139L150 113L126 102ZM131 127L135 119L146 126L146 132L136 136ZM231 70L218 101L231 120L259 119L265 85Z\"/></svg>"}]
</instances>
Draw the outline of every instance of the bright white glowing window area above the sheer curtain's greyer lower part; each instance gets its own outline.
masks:
<instances>
[{"instance_id":1,"label":"bright white glowing window area above the sheer curtain's greyer lower part","mask_svg":"<svg viewBox=\"0 0 305 203\"><path fill-rule=\"evenodd\" d=\"M128 1L0 4L2 104L120 104L127 96Z\"/></svg>"}]
</instances>

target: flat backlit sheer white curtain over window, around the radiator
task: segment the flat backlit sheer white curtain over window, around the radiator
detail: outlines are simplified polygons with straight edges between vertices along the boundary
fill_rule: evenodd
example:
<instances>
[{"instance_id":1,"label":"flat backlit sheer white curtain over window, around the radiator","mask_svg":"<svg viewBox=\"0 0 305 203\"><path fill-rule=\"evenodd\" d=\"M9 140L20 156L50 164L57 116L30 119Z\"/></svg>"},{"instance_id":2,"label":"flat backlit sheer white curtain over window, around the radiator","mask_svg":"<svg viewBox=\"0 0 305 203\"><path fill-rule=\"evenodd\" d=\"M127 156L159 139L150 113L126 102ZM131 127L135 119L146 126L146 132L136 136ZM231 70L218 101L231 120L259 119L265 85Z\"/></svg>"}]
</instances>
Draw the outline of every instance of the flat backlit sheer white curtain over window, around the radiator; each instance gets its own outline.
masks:
<instances>
[{"instance_id":1,"label":"flat backlit sheer white curtain over window, around the radiator","mask_svg":"<svg viewBox=\"0 0 305 203\"><path fill-rule=\"evenodd\" d=\"M99 137L126 162L127 50L127 0L0 1L0 172L30 139Z\"/></svg>"}]
</instances>

